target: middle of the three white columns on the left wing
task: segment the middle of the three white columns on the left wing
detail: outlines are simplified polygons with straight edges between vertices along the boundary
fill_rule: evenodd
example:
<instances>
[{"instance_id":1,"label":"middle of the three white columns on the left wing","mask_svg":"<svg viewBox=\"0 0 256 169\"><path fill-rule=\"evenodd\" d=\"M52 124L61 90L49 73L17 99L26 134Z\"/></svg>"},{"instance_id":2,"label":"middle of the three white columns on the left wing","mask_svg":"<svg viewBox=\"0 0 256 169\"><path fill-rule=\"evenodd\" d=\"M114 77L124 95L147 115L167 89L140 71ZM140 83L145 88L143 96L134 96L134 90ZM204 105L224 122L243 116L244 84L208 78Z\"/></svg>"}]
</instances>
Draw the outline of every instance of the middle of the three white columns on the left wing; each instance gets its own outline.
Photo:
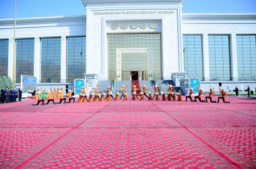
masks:
<instances>
[{"instance_id":1,"label":"middle of the three white columns on the left wing","mask_svg":"<svg viewBox=\"0 0 256 169\"><path fill-rule=\"evenodd\" d=\"M40 82L40 38L34 38L34 76Z\"/></svg>"}]
</instances>

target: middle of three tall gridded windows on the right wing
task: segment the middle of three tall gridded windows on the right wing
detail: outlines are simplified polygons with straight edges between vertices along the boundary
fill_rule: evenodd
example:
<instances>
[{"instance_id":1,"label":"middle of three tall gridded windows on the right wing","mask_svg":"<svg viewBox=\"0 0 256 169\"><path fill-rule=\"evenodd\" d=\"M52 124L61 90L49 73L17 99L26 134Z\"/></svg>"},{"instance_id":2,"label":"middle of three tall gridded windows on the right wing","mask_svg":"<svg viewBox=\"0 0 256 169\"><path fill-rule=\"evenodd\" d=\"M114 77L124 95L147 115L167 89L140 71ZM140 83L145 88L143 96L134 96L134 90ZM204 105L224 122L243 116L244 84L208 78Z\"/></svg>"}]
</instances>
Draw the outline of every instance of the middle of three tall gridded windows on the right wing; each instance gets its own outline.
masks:
<instances>
[{"instance_id":1,"label":"middle of three tall gridded windows on the right wing","mask_svg":"<svg viewBox=\"0 0 256 169\"><path fill-rule=\"evenodd\" d=\"M209 35L210 80L231 80L230 37Z\"/></svg>"}]
</instances>

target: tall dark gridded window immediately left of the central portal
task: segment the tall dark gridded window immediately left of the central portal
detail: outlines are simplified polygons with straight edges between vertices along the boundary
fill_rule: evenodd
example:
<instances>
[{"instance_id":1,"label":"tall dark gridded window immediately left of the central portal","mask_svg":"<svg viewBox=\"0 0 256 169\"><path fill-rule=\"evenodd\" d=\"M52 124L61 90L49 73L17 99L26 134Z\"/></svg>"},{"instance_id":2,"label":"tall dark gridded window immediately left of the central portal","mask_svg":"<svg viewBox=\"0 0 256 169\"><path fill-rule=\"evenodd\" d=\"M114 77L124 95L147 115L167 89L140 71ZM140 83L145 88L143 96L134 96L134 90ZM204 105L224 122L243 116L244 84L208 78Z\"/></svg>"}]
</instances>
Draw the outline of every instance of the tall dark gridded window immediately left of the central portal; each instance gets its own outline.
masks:
<instances>
[{"instance_id":1,"label":"tall dark gridded window immediately left of the central portal","mask_svg":"<svg viewBox=\"0 0 256 169\"><path fill-rule=\"evenodd\" d=\"M84 78L86 73L86 37L67 38L67 82Z\"/></svg>"}]
</instances>

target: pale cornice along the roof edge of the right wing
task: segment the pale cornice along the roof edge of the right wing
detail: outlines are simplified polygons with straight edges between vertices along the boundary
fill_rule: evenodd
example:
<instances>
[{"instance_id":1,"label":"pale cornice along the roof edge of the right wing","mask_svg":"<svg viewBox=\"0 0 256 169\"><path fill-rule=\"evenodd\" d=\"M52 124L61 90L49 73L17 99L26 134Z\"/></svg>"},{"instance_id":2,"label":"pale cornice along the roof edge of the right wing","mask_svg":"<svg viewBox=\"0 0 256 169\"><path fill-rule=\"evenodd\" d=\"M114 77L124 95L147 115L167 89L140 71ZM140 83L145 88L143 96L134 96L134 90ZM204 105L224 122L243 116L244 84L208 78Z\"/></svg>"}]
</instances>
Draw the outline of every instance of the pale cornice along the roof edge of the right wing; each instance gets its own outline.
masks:
<instances>
[{"instance_id":1,"label":"pale cornice along the roof edge of the right wing","mask_svg":"<svg viewBox=\"0 0 256 169\"><path fill-rule=\"evenodd\" d=\"M183 21L255 21L256 13L183 13Z\"/></svg>"}]
</instances>

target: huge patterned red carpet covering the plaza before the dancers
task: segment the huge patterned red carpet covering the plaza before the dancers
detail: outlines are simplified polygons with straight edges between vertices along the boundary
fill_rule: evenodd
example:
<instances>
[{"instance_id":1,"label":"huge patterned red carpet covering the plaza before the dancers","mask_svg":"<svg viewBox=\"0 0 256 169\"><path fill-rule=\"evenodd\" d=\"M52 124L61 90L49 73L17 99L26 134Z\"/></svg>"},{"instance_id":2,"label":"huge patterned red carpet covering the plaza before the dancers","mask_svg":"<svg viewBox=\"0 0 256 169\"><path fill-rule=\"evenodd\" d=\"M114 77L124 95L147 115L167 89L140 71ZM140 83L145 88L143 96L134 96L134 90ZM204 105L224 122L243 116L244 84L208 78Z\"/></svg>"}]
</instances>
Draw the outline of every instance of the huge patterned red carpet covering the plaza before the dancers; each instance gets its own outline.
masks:
<instances>
[{"instance_id":1,"label":"huge patterned red carpet covering the plaza before the dancers","mask_svg":"<svg viewBox=\"0 0 256 169\"><path fill-rule=\"evenodd\" d=\"M227 100L0 104L0 168L256 168L256 99Z\"/></svg>"}]
</instances>

